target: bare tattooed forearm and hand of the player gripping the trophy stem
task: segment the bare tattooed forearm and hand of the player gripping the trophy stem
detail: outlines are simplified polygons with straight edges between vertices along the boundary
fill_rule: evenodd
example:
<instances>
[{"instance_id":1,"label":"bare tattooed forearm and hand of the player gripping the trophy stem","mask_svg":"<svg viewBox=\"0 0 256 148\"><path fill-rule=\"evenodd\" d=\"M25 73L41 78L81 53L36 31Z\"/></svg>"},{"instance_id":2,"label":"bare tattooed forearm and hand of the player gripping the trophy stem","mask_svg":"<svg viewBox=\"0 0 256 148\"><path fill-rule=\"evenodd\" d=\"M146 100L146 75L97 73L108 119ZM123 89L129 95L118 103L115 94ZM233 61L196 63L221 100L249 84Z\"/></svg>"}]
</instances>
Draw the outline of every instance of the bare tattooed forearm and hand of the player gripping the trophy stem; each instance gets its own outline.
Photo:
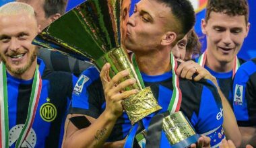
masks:
<instances>
[{"instance_id":1,"label":"bare tattooed forearm and hand of the player gripping the trophy stem","mask_svg":"<svg viewBox=\"0 0 256 148\"><path fill-rule=\"evenodd\" d=\"M127 98L127 96L137 93L136 89L120 93L124 87L135 83L135 81L128 79L118 83L123 77L128 75L128 72L121 71L113 79L110 79L108 75L109 69L110 65L106 64L100 72L100 79L106 100L106 109L98 118L86 116L91 122L91 125L82 129L78 129L69 121L71 116L78 116L79 114L69 114L65 122L63 147L102 147L110 135L117 118L123 114L121 101Z\"/></svg>"}]
</instances>

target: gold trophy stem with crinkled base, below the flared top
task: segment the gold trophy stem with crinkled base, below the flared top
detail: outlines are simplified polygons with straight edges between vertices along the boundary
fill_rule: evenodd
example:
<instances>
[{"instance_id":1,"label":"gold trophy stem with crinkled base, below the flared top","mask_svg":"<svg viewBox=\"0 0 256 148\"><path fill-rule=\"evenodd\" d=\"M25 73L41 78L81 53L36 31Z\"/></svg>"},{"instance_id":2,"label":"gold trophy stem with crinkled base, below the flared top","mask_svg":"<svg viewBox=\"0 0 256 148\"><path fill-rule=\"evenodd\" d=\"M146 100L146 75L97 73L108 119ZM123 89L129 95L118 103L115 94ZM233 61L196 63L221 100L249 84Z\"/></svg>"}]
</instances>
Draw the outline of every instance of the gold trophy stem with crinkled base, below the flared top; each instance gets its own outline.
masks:
<instances>
[{"instance_id":1,"label":"gold trophy stem with crinkled base, below the flared top","mask_svg":"<svg viewBox=\"0 0 256 148\"><path fill-rule=\"evenodd\" d=\"M125 87L125 90L139 89L139 92L125 98L125 100L122 102L123 108L131 120L131 124L134 124L145 116L162 109L154 98L150 87L146 87L144 89L142 88L139 77L136 75L133 65L129 61L125 50L121 46L119 48L110 50L100 59L94 61L94 63L96 63L99 69L102 69L105 63L110 63L110 77L117 75L117 73L120 71L128 69L130 74L121 81L131 78L135 78L137 80L137 83Z\"/></svg>"}]
</instances>

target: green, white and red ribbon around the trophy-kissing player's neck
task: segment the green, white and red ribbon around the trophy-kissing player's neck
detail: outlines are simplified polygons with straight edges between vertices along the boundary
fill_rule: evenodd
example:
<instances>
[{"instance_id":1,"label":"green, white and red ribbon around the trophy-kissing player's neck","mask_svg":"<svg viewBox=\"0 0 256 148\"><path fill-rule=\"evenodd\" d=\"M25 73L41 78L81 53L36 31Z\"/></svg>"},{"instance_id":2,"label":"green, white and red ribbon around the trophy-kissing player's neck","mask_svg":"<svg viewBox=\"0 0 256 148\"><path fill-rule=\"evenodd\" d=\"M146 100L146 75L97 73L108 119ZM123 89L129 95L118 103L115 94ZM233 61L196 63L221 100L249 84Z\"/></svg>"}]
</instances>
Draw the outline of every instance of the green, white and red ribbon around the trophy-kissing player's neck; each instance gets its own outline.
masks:
<instances>
[{"instance_id":1,"label":"green, white and red ribbon around the trophy-kissing player's neck","mask_svg":"<svg viewBox=\"0 0 256 148\"><path fill-rule=\"evenodd\" d=\"M138 77L140 77L139 81L142 83L143 88L145 87L141 73L139 72L139 67L135 60L135 54L131 55L131 61L134 65L135 72L137 73ZM168 110L170 111L170 114L174 112L178 112L181 108L181 89L179 88L179 77L176 75L176 70L178 67L177 60L174 58L173 54L170 54L170 66L172 67L172 86L173 86L173 92L172 92L172 98L170 100Z\"/></svg>"}]
</instances>

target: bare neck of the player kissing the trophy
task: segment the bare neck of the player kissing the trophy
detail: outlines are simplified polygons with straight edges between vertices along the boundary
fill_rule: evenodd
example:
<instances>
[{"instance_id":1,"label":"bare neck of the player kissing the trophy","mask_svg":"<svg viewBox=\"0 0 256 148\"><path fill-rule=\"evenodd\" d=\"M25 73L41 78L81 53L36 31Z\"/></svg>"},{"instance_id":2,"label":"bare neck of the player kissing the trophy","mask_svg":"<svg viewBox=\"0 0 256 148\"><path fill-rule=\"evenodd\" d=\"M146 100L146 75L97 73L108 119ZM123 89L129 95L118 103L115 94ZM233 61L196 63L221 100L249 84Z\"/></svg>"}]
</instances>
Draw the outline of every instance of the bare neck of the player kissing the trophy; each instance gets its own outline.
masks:
<instances>
[{"instance_id":1,"label":"bare neck of the player kissing the trophy","mask_svg":"<svg viewBox=\"0 0 256 148\"><path fill-rule=\"evenodd\" d=\"M170 50L135 53L139 70L146 75L162 75L170 71Z\"/></svg>"}]
</instances>

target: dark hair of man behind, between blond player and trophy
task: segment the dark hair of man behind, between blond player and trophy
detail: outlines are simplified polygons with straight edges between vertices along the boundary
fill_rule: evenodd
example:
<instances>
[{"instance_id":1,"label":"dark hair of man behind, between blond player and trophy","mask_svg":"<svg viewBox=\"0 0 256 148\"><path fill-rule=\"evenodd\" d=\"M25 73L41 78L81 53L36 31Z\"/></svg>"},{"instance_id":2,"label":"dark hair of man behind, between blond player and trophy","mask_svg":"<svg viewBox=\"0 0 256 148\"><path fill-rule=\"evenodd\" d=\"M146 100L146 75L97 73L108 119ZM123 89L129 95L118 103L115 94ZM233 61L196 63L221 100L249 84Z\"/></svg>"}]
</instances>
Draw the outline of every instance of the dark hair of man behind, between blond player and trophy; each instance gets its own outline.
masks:
<instances>
[{"instance_id":1,"label":"dark hair of man behind, between blond player and trophy","mask_svg":"<svg viewBox=\"0 0 256 148\"><path fill-rule=\"evenodd\" d=\"M68 0L44 0L45 17L50 17L55 13L63 15L67 6Z\"/></svg>"}]
</instances>

